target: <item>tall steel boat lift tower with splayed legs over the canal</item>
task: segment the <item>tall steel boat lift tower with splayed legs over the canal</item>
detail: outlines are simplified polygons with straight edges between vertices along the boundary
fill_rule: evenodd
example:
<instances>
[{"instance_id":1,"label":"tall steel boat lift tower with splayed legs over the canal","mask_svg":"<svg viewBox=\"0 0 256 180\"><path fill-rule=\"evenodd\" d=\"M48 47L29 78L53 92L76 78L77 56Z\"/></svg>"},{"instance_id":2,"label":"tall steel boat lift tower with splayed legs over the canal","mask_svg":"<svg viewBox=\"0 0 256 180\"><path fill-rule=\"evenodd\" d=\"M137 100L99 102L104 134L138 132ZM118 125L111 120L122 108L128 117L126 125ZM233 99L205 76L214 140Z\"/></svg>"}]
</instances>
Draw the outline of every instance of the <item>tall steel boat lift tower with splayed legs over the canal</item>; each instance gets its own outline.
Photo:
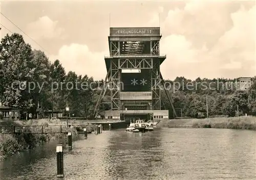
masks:
<instances>
[{"instance_id":1,"label":"tall steel boat lift tower with splayed legs over the canal","mask_svg":"<svg viewBox=\"0 0 256 180\"><path fill-rule=\"evenodd\" d=\"M162 89L177 117L172 95L163 88L165 82L160 65L166 55L159 54L160 39L159 27L110 28L110 56L105 57L108 73L94 109L95 117L108 88L111 92L111 110L105 111L105 119L123 119L124 116L143 114L150 115L149 119L168 119L168 110L161 109ZM125 73L125 70L128 72ZM132 70L137 72L130 73ZM133 79L138 79L138 85L131 85ZM142 81L147 83L142 86Z\"/></svg>"}]
</instances>

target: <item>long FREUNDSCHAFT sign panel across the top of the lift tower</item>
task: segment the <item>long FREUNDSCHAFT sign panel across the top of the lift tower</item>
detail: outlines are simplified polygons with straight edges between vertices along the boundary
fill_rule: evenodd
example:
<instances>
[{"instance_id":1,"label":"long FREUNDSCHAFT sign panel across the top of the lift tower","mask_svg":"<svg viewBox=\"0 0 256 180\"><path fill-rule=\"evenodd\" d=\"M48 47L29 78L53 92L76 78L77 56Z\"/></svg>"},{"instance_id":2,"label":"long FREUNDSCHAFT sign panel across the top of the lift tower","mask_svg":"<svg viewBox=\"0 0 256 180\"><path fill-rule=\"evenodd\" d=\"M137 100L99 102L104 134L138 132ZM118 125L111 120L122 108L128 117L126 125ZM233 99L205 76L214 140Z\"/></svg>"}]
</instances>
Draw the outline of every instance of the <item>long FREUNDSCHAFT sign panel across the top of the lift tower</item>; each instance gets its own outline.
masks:
<instances>
[{"instance_id":1,"label":"long FREUNDSCHAFT sign panel across the top of the lift tower","mask_svg":"<svg viewBox=\"0 0 256 180\"><path fill-rule=\"evenodd\" d=\"M160 36L160 28L110 28L110 36Z\"/></svg>"}]
</instances>

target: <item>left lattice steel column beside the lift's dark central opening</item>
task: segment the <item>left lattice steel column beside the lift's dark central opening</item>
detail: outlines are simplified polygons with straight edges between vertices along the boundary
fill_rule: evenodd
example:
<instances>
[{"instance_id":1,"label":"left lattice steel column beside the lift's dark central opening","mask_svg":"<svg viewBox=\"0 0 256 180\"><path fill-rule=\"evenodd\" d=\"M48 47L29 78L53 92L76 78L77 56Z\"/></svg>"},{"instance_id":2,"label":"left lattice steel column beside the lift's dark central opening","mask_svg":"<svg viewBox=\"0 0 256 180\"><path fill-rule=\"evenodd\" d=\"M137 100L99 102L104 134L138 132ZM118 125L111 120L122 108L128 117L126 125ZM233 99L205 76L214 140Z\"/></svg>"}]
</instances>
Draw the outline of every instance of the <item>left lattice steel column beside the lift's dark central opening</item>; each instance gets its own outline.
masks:
<instances>
[{"instance_id":1,"label":"left lattice steel column beside the lift's dark central opening","mask_svg":"<svg viewBox=\"0 0 256 180\"><path fill-rule=\"evenodd\" d=\"M120 69L118 69L118 59L111 60L110 67L110 93L111 93L111 110L120 110Z\"/></svg>"}]
</instances>

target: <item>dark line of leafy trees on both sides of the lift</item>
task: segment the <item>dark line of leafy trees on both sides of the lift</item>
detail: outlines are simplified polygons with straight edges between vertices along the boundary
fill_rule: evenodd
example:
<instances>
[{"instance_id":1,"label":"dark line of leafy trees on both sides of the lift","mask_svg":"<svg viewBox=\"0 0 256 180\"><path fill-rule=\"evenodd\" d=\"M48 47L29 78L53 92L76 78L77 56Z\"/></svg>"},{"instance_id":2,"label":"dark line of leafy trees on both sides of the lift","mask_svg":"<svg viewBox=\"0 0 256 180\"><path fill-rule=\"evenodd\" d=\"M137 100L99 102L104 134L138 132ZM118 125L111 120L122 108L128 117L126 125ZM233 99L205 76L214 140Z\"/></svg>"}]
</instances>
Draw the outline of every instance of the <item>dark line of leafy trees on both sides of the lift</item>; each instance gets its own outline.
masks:
<instances>
[{"instance_id":1,"label":"dark line of leafy trees on both sides of the lift","mask_svg":"<svg viewBox=\"0 0 256 180\"><path fill-rule=\"evenodd\" d=\"M197 117L198 112L206 112L206 95L209 115L234 116L237 105L241 114L256 111L256 76L252 78L254 84L249 91L228 90L217 87L219 85L216 83L211 85L213 86L211 89L203 89L200 84L204 82L209 87L211 82L225 82L227 79L198 78L191 81L184 77L177 77L174 81L166 81L173 85L175 82L193 84L191 89L173 87L168 90L173 97L173 103L179 116L181 116L181 111L183 116L190 117ZM72 82L73 85L76 84L80 88L69 88L67 84L60 88L59 83L61 82ZM92 88L81 88L81 82L86 82L88 85L95 81L88 75L78 75L73 71L66 73L59 60L50 62L44 52L32 49L31 45L24 41L22 35L7 34L2 38L0 44L0 101L4 106L19 108L24 114L36 114L38 104L41 111L65 111L68 106L70 114L74 114L76 117L93 118L94 107L101 92L100 87L103 85L103 80L96 81L92 84ZM33 87L32 90L31 87ZM212 90L214 88L216 89ZM162 108L168 109L172 116L173 111L169 106L166 94L164 91L161 92ZM109 101L110 90L107 90L101 102ZM100 103L97 111L103 112L109 109L109 104Z\"/></svg>"}]
</instances>

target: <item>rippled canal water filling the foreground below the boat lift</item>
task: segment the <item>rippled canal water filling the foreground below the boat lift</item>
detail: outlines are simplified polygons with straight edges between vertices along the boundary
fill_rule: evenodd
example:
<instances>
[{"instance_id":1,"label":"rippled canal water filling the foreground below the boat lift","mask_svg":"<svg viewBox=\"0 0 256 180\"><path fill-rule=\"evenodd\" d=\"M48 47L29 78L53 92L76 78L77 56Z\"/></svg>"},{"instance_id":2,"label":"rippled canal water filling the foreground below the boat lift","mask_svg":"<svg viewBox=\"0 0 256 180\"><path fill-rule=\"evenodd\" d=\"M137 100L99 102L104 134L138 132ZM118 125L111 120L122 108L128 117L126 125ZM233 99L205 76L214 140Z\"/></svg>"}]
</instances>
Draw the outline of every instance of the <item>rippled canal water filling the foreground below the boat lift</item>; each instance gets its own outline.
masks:
<instances>
[{"instance_id":1,"label":"rippled canal water filling the foreground below the boat lift","mask_svg":"<svg viewBox=\"0 0 256 180\"><path fill-rule=\"evenodd\" d=\"M64 151L67 180L256 179L256 132L159 128L89 134ZM56 177L56 144L51 142L0 162L0 179Z\"/></svg>"}]
</instances>

